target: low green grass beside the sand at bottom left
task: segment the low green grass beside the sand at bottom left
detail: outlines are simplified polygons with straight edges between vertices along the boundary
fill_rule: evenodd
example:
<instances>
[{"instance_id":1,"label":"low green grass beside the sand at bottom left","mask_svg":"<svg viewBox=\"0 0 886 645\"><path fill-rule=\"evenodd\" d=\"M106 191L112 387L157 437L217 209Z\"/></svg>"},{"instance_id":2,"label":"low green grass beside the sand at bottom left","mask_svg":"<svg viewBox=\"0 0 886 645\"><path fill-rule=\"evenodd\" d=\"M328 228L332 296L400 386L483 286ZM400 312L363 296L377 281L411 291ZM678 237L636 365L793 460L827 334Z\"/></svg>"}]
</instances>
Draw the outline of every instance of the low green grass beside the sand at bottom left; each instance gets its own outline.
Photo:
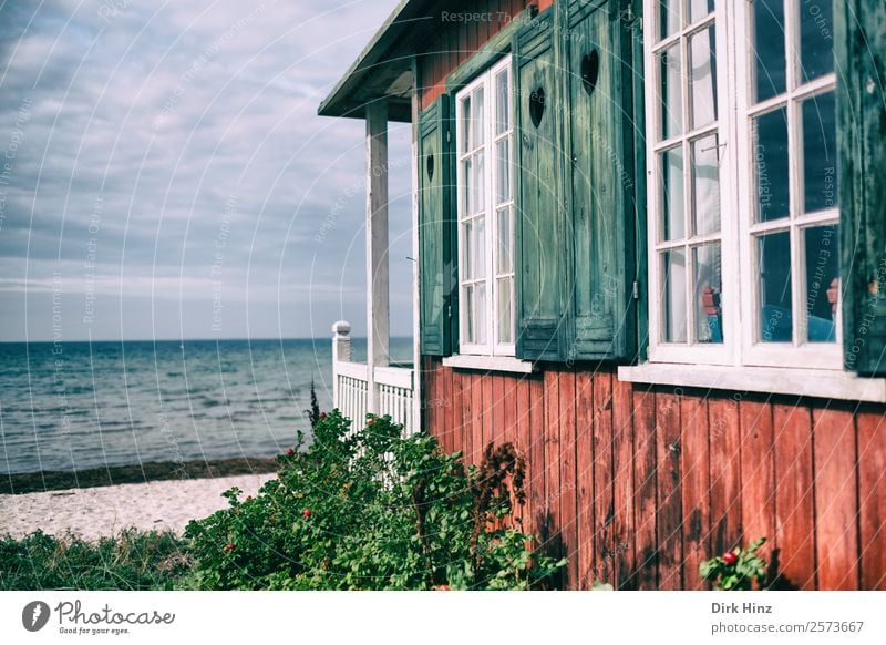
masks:
<instances>
[{"instance_id":1,"label":"low green grass beside the sand at bottom left","mask_svg":"<svg viewBox=\"0 0 886 645\"><path fill-rule=\"evenodd\" d=\"M123 531L86 542L38 531L0 538L0 590L171 590L190 571L174 533Z\"/></svg>"}]
</instances>

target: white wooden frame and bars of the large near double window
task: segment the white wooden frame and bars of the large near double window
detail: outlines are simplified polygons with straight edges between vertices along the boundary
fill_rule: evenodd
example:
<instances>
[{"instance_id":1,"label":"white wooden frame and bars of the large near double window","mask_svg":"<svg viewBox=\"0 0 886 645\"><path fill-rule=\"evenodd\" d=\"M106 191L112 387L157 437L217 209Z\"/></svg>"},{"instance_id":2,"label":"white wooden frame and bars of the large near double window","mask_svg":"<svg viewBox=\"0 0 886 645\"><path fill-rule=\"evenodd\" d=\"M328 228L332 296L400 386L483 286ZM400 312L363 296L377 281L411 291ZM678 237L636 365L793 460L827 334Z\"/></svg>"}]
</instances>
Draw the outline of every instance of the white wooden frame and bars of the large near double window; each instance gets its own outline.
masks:
<instances>
[{"instance_id":1,"label":"white wooden frame and bars of the large near double window","mask_svg":"<svg viewBox=\"0 0 886 645\"><path fill-rule=\"evenodd\" d=\"M689 4L683 0L683 7ZM791 14L786 18L786 31L794 33L787 45L787 92L779 96L751 105L751 51L749 20L751 19L751 3L745 0L715 0L714 11L705 19L689 24L667 39L659 40L660 1L645 0L645 64L646 78L646 124L647 124L647 206L648 206L648 264L649 264L649 361L661 364L693 364L711 366L742 367L780 367L780 368L808 368L817 370L842 371L842 324L841 316L836 316L836 340L834 342L799 342L801 315L793 318L792 342L761 342L755 339L758 327L758 285L759 275L755 263L753 234L763 228L775 231L785 229L785 221L754 224L754 166L753 143L751 141L751 116L765 113L775 105L787 103L794 113L800 110L797 98L805 98L832 91L835 84L835 74L831 73L810 83L796 88L795 61L799 52L794 47L799 42L799 25L796 24L799 6L802 0L789 3ZM713 18L711 18L713 17ZM660 66L658 53L669 49L674 43L680 43L681 50L681 109L684 127L689 125L689 91L687 90L687 50L688 41L684 35L692 34L709 25L710 20L715 20L717 39L717 85L718 85L718 121L717 127L705 126L698 130L688 130L680 136L659 142L661 124L659 110L661 98ZM785 96L787 96L785 99ZM801 228L811 224L839 224L838 209L832 208L823 213L800 215L796 204L797 195L802 195L802 160L797 151L796 137L799 119L789 116L789 167L791 176L791 228ZM722 152L720 167L720 244L721 244L721 272L722 293L720 295L721 326L723 332L722 344L678 344L664 342L662 308L664 297L663 270L660 266L660 252L668 246L659 242L659 231L662 225L663 205L659 191L659 161L658 153L670 149L679 140L691 141L701 133L718 132L719 146ZM689 146L683 146L683 198L687 227L690 225L691 213L691 166ZM687 236L690 235L687 228ZM715 237L715 236L714 236ZM704 238L689 238L692 242L678 243L676 248L687 248ZM800 313L804 301L805 272L802 264L802 240L800 235L791 236L792 262L792 303L794 313ZM692 297L691 281L692 264L691 253L687 254L687 298ZM689 311L694 310L690 303ZM839 304L837 304L839 311ZM693 317L687 319L687 340L691 341L694 328Z\"/></svg>"}]
</instances>

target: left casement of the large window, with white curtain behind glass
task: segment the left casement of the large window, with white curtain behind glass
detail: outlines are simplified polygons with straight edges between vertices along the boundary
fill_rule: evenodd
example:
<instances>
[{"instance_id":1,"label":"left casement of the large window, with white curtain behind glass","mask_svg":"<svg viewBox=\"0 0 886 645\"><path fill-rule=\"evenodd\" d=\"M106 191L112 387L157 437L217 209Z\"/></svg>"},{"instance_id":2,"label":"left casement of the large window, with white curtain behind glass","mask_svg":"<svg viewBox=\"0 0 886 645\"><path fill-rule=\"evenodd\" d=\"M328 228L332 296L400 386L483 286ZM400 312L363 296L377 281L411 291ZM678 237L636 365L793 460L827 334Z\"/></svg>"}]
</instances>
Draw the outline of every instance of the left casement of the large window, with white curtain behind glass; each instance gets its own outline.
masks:
<instances>
[{"instance_id":1,"label":"left casement of the large window, with white curtain behind glass","mask_svg":"<svg viewBox=\"0 0 886 645\"><path fill-rule=\"evenodd\" d=\"M713 0L662 0L657 9L647 94L653 100L650 260L661 295L652 313L655 345L722 352L729 339L722 324L721 174L729 139L718 82L722 19Z\"/></svg>"}]
</instances>

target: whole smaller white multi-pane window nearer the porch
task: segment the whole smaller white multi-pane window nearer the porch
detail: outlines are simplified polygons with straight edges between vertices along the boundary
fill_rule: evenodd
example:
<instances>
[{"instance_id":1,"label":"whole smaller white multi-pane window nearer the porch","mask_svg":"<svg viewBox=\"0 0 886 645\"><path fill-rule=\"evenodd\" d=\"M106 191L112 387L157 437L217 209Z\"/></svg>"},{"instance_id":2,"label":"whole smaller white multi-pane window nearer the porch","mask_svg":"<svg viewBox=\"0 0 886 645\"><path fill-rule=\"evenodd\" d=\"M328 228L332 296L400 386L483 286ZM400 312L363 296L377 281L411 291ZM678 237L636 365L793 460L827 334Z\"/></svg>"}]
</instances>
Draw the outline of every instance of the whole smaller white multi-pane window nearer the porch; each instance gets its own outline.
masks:
<instances>
[{"instance_id":1,"label":"whole smaller white multi-pane window nearer the porch","mask_svg":"<svg viewBox=\"0 0 886 645\"><path fill-rule=\"evenodd\" d=\"M460 351L514 355L511 59L456 95Z\"/></svg>"}]
</instances>

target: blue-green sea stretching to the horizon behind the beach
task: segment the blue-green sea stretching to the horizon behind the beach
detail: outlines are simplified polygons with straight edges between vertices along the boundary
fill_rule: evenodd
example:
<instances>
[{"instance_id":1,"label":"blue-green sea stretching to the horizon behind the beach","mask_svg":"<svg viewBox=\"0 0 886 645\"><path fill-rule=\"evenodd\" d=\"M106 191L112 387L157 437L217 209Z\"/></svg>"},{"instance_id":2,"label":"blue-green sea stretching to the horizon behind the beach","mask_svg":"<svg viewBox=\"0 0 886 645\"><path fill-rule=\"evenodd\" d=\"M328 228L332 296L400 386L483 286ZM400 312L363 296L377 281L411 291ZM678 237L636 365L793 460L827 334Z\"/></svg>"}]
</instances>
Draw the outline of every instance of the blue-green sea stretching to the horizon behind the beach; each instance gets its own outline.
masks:
<instances>
[{"instance_id":1,"label":"blue-green sea stretching to the horizon behind the beach","mask_svg":"<svg viewBox=\"0 0 886 645\"><path fill-rule=\"evenodd\" d=\"M0 342L0 475L279 454L310 434L311 381L330 409L329 338Z\"/></svg>"}]
</instances>

